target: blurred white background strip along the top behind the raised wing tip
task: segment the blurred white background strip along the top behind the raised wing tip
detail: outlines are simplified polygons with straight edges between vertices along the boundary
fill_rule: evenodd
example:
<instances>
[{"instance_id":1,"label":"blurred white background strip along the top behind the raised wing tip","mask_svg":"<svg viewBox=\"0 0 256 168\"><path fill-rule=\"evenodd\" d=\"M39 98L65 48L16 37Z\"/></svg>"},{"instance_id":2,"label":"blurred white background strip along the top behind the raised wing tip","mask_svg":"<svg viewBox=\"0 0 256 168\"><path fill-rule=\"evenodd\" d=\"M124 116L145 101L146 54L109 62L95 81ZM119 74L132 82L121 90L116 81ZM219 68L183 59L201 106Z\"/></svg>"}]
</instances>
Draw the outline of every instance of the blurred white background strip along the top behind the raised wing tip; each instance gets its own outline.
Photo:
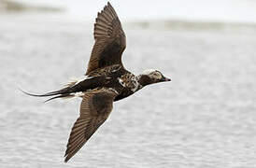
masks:
<instances>
[{"instance_id":1,"label":"blurred white background strip along the top behind the raised wing tip","mask_svg":"<svg viewBox=\"0 0 256 168\"><path fill-rule=\"evenodd\" d=\"M69 17L92 20L107 1L16 0L30 5L63 7ZM123 21L174 19L186 21L256 22L255 0L129 0L110 1Z\"/></svg>"}]
</instances>

